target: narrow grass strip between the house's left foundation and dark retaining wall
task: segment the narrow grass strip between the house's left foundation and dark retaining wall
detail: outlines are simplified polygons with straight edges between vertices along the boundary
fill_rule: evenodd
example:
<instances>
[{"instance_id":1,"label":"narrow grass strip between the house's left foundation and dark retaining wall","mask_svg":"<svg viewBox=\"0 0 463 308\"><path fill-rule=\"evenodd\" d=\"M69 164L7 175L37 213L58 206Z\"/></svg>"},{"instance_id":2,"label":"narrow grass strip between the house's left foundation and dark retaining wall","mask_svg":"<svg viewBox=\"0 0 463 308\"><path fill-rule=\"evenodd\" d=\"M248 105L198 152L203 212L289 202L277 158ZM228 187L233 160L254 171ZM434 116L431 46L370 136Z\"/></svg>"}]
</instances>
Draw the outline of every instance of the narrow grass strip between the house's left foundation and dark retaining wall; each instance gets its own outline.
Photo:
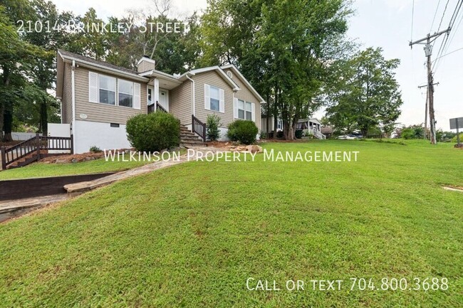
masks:
<instances>
[{"instance_id":1,"label":"narrow grass strip between the house's left foundation and dark retaining wall","mask_svg":"<svg viewBox=\"0 0 463 308\"><path fill-rule=\"evenodd\" d=\"M186 153L184 150L180 154ZM126 156L128 159L128 156ZM103 172L123 171L144 164L149 161L105 161L105 158L93 161L83 161L76 164L44 164L33 163L22 168L0 171L1 180L28 179L42 176L70 176L75 174L96 174Z\"/></svg>"}]
</instances>

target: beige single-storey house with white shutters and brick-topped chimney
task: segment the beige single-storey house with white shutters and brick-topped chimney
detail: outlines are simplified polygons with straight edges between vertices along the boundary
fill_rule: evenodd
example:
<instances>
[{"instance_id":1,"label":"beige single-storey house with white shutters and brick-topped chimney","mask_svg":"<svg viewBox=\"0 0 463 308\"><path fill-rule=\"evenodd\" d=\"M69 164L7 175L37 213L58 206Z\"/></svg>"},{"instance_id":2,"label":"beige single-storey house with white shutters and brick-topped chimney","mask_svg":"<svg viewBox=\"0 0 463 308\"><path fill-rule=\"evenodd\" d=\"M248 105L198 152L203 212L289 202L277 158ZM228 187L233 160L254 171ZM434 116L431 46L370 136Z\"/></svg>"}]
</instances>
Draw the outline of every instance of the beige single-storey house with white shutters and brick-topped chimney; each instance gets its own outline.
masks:
<instances>
[{"instance_id":1,"label":"beige single-storey house with white shutters and brick-topped chimney","mask_svg":"<svg viewBox=\"0 0 463 308\"><path fill-rule=\"evenodd\" d=\"M74 152L90 147L130 147L127 120L155 110L172 113L192 129L192 115L202 123L207 115L222 119L222 139L236 119L252 120L265 103L234 65L212 66L170 75L143 57L137 71L58 50L56 97L61 100L61 123L70 124Z\"/></svg>"}]
</instances>

